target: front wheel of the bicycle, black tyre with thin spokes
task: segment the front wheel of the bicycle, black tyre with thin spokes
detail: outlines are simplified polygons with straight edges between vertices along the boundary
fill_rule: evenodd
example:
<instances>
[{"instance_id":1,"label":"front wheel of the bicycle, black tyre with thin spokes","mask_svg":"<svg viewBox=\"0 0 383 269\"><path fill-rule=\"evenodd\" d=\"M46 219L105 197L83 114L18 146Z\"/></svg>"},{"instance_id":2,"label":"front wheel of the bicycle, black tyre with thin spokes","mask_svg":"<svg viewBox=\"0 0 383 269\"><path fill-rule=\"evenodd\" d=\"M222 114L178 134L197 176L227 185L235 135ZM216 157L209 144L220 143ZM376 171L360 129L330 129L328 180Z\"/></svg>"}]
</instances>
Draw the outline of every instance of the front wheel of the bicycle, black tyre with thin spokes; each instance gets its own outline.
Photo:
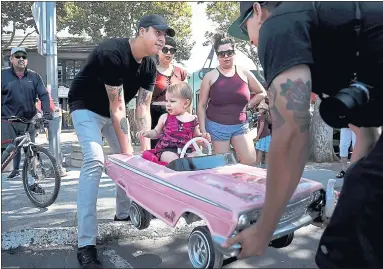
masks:
<instances>
[{"instance_id":1,"label":"front wheel of the bicycle, black tyre with thin spokes","mask_svg":"<svg viewBox=\"0 0 383 269\"><path fill-rule=\"evenodd\" d=\"M32 145L31 147L33 156L30 156L30 151L26 154L22 172L24 190L35 206L45 208L53 204L59 194L61 185L59 167L56 159L47 149L38 145ZM47 157L47 161L42 160L43 155ZM35 162L37 162L35 165L32 164L33 158L37 158L37 160L35 160ZM47 164L50 164L50 169L45 167ZM29 172L31 173L31 180L34 182L33 184L30 184L28 177ZM53 179L53 190L49 192L46 199L43 199L47 192L40 185L52 181L50 178ZM52 183L50 183L50 185L52 185Z\"/></svg>"}]
</instances>

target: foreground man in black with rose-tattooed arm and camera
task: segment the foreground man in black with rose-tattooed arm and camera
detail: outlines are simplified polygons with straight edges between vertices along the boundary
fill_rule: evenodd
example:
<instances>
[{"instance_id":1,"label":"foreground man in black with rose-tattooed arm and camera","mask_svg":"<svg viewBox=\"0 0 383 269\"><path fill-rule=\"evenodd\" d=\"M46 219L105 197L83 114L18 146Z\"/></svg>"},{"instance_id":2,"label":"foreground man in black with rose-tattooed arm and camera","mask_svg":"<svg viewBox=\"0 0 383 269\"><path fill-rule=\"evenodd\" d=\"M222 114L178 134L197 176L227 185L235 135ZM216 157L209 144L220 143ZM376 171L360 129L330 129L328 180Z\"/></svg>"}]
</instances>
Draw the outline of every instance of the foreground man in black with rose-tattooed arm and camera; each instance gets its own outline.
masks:
<instances>
[{"instance_id":1,"label":"foreground man in black with rose-tattooed arm and camera","mask_svg":"<svg viewBox=\"0 0 383 269\"><path fill-rule=\"evenodd\" d=\"M356 86L350 84L358 81L368 85L358 89L368 88L369 100L364 95L368 101L342 119L357 136L354 164L320 240L316 263L320 268L383 267L383 137L378 140L376 128L383 125L382 14L381 2L240 3L240 17L229 34L258 47L273 136L262 214L255 225L224 244L240 242L239 258L265 252L302 176L311 91L324 104L341 89L351 94Z\"/></svg>"}]
</instances>

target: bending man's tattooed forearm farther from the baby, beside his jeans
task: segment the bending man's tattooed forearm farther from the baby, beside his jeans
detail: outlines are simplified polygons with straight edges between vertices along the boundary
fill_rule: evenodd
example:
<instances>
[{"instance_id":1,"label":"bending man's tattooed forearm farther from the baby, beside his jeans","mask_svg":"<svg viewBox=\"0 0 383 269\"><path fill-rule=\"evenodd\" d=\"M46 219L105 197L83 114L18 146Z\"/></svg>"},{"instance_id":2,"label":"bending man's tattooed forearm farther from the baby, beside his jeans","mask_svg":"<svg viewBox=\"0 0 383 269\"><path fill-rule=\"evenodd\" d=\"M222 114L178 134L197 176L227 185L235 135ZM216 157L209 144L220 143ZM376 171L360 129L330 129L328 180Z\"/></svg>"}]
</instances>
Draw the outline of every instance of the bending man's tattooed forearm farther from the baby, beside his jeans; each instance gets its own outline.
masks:
<instances>
[{"instance_id":1,"label":"bending man's tattooed forearm farther from the baby, beside his jeans","mask_svg":"<svg viewBox=\"0 0 383 269\"><path fill-rule=\"evenodd\" d=\"M109 113L122 153L133 153L129 123L126 119L124 89L121 86L105 85L109 98Z\"/></svg>"}]
</instances>

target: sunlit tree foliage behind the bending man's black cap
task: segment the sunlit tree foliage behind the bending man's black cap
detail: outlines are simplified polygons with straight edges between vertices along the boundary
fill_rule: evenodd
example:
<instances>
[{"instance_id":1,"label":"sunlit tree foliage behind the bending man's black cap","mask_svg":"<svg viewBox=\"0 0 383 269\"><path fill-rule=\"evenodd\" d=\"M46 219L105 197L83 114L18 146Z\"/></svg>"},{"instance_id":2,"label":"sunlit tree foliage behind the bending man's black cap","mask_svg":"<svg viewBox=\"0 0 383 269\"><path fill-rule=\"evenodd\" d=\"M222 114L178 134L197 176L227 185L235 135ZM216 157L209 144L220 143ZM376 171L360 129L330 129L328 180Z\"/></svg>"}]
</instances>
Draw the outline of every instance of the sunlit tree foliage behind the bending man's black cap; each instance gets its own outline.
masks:
<instances>
[{"instance_id":1,"label":"sunlit tree foliage behind the bending man's black cap","mask_svg":"<svg viewBox=\"0 0 383 269\"><path fill-rule=\"evenodd\" d=\"M88 34L94 42L108 37L134 37L137 23L148 14L164 16L176 30L177 61L187 60L194 46L191 38L191 6L186 2L66 2L58 28L71 34Z\"/></svg>"}]
</instances>

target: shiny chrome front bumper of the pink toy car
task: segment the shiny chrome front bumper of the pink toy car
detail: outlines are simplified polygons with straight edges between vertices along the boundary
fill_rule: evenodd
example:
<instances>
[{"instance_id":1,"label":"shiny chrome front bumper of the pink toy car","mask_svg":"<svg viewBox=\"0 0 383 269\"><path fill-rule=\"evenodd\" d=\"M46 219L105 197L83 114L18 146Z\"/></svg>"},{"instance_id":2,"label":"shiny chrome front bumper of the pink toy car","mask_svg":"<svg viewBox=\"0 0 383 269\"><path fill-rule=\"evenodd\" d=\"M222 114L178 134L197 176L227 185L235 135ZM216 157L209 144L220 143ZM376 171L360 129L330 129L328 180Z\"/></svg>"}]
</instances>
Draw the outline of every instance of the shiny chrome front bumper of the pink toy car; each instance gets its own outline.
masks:
<instances>
[{"instance_id":1,"label":"shiny chrome front bumper of the pink toy car","mask_svg":"<svg viewBox=\"0 0 383 269\"><path fill-rule=\"evenodd\" d=\"M271 241L278 239L278 238L281 238L281 237L288 235L288 234L290 234L290 233L292 233L292 232L294 232L294 231L296 231L296 230L298 230L304 226L307 226L307 225L313 223L314 220L319 216L320 216L320 212L306 213L303 216L301 216L299 219L297 219L297 220L295 220L289 224L278 227L275 230ZM241 249L241 245L235 244L229 248L223 248L221 245L226 240L227 240L227 238L225 238L225 237L213 236L213 242L215 243L215 246L217 247L217 249L222 254L224 254L225 256L229 256L229 257L238 256L240 249Z\"/></svg>"}]
</instances>

